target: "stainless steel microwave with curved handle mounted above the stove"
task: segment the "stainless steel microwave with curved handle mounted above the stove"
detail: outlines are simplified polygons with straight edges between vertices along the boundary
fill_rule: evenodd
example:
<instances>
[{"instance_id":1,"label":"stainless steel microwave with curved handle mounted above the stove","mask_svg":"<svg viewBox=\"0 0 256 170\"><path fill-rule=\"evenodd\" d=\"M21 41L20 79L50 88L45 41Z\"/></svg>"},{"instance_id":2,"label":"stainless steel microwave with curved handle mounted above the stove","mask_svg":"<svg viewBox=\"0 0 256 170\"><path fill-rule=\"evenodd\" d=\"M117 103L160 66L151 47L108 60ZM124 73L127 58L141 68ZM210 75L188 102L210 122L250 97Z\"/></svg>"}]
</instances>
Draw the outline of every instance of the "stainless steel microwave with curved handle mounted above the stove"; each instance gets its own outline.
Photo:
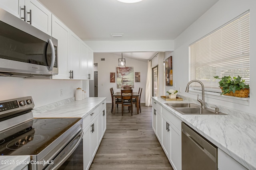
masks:
<instances>
[{"instance_id":1,"label":"stainless steel microwave with curved handle mounted above the stove","mask_svg":"<svg viewBox=\"0 0 256 170\"><path fill-rule=\"evenodd\" d=\"M0 8L0 76L58 74L58 40Z\"/></svg>"}]
</instances>

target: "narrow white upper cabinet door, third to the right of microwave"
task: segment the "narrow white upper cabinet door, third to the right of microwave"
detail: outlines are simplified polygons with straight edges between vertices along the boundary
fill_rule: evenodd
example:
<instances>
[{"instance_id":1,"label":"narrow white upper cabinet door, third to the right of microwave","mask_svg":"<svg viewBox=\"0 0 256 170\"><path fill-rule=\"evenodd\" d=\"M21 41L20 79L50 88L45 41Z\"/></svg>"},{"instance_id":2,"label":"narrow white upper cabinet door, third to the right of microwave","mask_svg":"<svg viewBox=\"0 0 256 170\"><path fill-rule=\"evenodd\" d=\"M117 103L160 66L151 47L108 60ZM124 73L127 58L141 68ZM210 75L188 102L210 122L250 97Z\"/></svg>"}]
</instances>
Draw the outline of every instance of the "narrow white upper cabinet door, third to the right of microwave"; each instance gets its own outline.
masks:
<instances>
[{"instance_id":1,"label":"narrow white upper cabinet door, third to the right of microwave","mask_svg":"<svg viewBox=\"0 0 256 170\"><path fill-rule=\"evenodd\" d=\"M84 41L81 40L81 79L88 80L87 68L88 49Z\"/></svg>"}]
</instances>

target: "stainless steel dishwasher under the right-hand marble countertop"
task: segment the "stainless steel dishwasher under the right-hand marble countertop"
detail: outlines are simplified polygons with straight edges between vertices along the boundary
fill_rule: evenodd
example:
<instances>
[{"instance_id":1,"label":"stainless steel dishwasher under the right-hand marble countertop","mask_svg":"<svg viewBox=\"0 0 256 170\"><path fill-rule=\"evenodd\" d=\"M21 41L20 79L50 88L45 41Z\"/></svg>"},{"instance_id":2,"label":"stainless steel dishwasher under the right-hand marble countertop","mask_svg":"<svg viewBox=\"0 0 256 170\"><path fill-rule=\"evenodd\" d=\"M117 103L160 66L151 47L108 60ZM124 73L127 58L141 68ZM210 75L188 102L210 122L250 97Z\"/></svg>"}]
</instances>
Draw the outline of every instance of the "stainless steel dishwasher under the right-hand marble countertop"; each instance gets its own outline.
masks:
<instances>
[{"instance_id":1,"label":"stainless steel dishwasher under the right-hand marble countertop","mask_svg":"<svg viewBox=\"0 0 256 170\"><path fill-rule=\"evenodd\" d=\"M217 147L182 122L182 170L218 170Z\"/></svg>"}]
</instances>

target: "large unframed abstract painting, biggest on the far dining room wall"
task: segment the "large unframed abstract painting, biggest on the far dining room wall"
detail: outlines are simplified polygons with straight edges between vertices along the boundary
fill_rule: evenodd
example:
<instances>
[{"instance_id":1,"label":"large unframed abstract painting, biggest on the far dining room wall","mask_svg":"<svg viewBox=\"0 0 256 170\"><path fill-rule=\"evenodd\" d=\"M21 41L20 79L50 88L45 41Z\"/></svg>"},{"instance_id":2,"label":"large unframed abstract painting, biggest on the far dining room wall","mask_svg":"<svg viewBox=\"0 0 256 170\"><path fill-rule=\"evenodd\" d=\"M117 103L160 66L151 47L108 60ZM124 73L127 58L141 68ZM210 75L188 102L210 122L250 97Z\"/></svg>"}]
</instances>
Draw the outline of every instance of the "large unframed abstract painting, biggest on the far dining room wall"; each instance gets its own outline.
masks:
<instances>
[{"instance_id":1,"label":"large unframed abstract painting, biggest on the far dining room wall","mask_svg":"<svg viewBox=\"0 0 256 170\"><path fill-rule=\"evenodd\" d=\"M117 88L131 86L134 88L134 69L133 67L116 67Z\"/></svg>"}]
</instances>

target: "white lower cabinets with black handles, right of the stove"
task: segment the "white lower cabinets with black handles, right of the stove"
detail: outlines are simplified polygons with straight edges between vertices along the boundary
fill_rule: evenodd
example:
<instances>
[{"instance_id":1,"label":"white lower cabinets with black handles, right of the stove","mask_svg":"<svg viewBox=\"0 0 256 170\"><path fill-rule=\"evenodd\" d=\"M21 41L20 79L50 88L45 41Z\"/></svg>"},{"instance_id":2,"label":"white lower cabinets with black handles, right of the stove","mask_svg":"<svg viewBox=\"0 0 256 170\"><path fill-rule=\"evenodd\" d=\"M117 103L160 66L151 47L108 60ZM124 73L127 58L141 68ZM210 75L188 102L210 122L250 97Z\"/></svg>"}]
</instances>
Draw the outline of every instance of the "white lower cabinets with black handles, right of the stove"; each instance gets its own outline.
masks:
<instances>
[{"instance_id":1,"label":"white lower cabinets with black handles, right of the stove","mask_svg":"<svg viewBox=\"0 0 256 170\"><path fill-rule=\"evenodd\" d=\"M88 170L106 131L106 100L83 118L83 166ZM104 113L104 114L103 114Z\"/></svg>"}]
</instances>

